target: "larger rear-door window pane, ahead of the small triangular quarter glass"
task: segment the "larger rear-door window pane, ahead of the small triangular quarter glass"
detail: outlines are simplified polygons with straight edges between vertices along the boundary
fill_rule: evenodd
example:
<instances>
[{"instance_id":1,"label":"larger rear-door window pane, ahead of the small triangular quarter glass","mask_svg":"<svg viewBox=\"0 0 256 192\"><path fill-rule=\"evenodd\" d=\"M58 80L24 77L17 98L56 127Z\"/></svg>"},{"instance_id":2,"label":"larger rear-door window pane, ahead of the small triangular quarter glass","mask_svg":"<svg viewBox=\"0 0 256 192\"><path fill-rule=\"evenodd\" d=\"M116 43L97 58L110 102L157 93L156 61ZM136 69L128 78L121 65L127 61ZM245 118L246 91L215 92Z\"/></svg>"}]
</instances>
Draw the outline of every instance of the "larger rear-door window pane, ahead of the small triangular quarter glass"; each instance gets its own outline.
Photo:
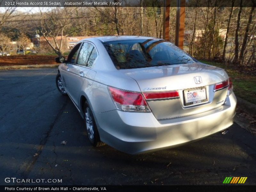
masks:
<instances>
[{"instance_id":1,"label":"larger rear-door window pane, ahead of the small triangular quarter glass","mask_svg":"<svg viewBox=\"0 0 256 192\"><path fill-rule=\"evenodd\" d=\"M78 65L87 66L87 62L89 60L93 48L94 47L92 44L85 42L79 52L76 63Z\"/></svg>"}]
</instances>

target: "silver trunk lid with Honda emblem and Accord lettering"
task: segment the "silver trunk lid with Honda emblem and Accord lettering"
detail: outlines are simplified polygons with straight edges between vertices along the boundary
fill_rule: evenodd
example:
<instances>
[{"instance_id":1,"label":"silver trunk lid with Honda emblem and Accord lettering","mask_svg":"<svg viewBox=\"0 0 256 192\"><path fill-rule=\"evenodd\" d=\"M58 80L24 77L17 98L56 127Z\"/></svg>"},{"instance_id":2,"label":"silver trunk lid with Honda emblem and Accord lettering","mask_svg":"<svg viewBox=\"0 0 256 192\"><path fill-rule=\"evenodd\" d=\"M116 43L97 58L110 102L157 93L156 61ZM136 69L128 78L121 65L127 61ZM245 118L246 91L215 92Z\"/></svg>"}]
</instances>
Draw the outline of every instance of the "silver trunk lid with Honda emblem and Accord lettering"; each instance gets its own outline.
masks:
<instances>
[{"instance_id":1,"label":"silver trunk lid with Honda emblem and Accord lettering","mask_svg":"<svg viewBox=\"0 0 256 192\"><path fill-rule=\"evenodd\" d=\"M203 63L120 71L138 83L146 99L151 93L171 92L174 97L157 98L156 94L153 97L151 94L147 99L152 113L158 120L209 111L222 105L227 97L227 87L214 91L214 84L228 79L227 73L221 68ZM172 94L176 91L179 93L178 97ZM195 95L196 99L193 98Z\"/></svg>"}]
</instances>

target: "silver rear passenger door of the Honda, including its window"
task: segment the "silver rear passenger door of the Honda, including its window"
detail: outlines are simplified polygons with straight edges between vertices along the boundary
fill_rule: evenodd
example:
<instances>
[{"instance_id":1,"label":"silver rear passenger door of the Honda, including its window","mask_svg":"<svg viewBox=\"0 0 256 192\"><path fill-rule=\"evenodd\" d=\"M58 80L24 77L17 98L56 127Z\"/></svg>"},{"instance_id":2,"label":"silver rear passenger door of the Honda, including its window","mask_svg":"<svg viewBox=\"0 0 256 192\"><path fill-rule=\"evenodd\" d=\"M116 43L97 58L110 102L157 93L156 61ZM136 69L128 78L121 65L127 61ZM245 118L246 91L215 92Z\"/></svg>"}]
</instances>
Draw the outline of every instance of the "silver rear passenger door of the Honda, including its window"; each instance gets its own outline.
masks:
<instances>
[{"instance_id":1,"label":"silver rear passenger door of the Honda, including its window","mask_svg":"<svg viewBox=\"0 0 256 192\"><path fill-rule=\"evenodd\" d=\"M79 106L80 92L85 81L85 77L90 73L90 68L95 60L93 59L95 58L95 51L93 50L95 50L93 44L90 42L84 42L81 45L75 64L72 64L69 68L69 94L77 106Z\"/></svg>"}]
</instances>

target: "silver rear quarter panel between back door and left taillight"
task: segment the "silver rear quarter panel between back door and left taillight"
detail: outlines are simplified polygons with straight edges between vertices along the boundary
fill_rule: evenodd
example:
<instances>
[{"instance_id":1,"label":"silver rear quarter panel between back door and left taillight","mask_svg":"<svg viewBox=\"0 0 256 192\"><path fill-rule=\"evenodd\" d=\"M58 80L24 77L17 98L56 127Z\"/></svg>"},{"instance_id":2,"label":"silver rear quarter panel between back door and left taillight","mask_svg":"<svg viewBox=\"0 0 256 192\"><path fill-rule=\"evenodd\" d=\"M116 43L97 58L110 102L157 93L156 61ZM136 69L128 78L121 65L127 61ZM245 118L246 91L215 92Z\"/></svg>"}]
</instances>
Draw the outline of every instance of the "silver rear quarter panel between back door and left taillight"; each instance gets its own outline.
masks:
<instances>
[{"instance_id":1,"label":"silver rear quarter panel between back door and left taillight","mask_svg":"<svg viewBox=\"0 0 256 192\"><path fill-rule=\"evenodd\" d=\"M140 92L140 88L135 80L116 69L108 52L99 40L87 39L86 41L95 45L99 56L90 69L95 72L93 79L91 76L86 76L80 95L86 97L92 110L97 113L115 110L108 86L137 92Z\"/></svg>"}]
</instances>

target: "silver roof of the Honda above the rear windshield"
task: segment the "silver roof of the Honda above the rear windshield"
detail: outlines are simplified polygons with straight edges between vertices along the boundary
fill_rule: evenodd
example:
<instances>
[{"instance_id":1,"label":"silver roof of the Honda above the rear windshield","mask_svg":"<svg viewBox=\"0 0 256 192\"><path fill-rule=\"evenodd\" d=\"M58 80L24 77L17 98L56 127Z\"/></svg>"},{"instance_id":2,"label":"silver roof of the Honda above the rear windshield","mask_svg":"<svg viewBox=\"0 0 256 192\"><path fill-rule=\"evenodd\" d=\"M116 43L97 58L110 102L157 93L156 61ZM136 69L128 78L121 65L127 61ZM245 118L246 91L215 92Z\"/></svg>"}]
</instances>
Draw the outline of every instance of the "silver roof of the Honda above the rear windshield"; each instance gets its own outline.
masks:
<instances>
[{"instance_id":1,"label":"silver roof of the Honda above the rear windshield","mask_svg":"<svg viewBox=\"0 0 256 192\"><path fill-rule=\"evenodd\" d=\"M119 40L136 40L136 39L159 39L155 37L147 37L147 36L98 36L98 37L91 37L85 38L81 41L85 41L88 39L98 39L101 42L108 42L108 41L119 41Z\"/></svg>"}]
</instances>

